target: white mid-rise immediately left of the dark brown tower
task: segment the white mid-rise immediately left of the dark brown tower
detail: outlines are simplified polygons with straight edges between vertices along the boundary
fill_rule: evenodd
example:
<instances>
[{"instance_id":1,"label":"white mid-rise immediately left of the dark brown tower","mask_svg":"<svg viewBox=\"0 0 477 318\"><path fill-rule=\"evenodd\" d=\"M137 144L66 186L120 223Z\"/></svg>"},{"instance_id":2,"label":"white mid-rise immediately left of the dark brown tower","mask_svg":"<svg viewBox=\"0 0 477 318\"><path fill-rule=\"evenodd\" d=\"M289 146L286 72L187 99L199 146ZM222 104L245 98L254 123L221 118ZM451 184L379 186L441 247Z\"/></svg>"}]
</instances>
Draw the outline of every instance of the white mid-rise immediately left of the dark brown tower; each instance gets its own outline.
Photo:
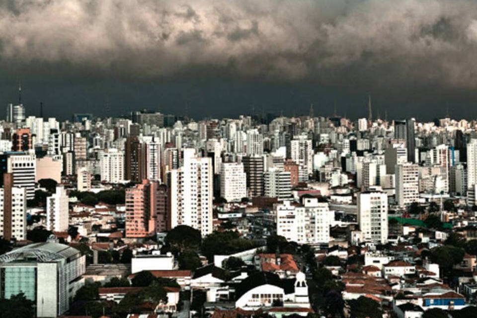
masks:
<instances>
[{"instance_id":1,"label":"white mid-rise immediately left of the dark brown tower","mask_svg":"<svg viewBox=\"0 0 477 318\"><path fill-rule=\"evenodd\" d=\"M115 148L99 154L101 180L119 183L124 180L124 152Z\"/></svg>"}]
</instances>

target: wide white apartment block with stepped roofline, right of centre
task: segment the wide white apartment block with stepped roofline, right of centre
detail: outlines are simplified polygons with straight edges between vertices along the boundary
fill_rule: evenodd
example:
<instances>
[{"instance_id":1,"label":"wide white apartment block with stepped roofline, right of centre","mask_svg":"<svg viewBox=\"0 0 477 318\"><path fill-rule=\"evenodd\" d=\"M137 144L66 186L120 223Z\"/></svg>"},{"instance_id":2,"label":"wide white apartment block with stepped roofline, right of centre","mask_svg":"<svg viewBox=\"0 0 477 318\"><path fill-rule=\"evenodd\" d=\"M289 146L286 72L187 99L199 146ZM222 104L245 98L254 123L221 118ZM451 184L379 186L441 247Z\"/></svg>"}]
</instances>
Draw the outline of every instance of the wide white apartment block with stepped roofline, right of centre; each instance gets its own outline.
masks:
<instances>
[{"instance_id":1,"label":"wide white apartment block with stepped roofline, right of centre","mask_svg":"<svg viewBox=\"0 0 477 318\"><path fill-rule=\"evenodd\" d=\"M305 198L303 206L290 201L276 206L277 235L299 244L317 244L329 241L329 226L334 219L328 203L317 198Z\"/></svg>"}]
</instances>

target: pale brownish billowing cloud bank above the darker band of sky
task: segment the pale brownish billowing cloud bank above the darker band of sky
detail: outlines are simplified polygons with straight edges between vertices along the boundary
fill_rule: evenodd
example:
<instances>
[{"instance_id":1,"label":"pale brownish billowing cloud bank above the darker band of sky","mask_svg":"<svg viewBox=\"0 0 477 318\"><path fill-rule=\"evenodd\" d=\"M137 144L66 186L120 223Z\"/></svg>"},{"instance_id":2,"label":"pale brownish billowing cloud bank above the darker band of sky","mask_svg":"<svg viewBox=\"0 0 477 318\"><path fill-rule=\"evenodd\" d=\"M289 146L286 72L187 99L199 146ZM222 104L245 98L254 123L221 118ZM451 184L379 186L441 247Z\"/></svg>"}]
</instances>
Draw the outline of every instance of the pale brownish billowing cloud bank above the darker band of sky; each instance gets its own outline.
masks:
<instances>
[{"instance_id":1,"label":"pale brownish billowing cloud bank above the darker band of sky","mask_svg":"<svg viewBox=\"0 0 477 318\"><path fill-rule=\"evenodd\" d=\"M475 88L476 54L474 0L0 3L0 63L10 67Z\"/></svg>"}]
</instances>

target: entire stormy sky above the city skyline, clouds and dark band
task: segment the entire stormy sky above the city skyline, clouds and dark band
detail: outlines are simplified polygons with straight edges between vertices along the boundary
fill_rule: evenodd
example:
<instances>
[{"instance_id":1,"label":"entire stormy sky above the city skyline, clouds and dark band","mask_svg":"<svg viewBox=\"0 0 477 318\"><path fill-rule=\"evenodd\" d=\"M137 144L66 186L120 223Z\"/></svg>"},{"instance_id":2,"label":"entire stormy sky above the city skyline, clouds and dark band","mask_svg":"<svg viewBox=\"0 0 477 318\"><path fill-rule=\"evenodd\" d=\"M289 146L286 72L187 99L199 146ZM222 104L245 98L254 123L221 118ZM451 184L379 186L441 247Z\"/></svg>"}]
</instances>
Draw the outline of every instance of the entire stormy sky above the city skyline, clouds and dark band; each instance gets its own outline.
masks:
<instances>
[{"instance_id":1,"label":"entire stormy sky above the city skyline, clouds and dark band","mask_svg":"<svg viewBox=\"0 0 477 318\"><path fill-rule=\"evenodd\" d=\"M2 0L0 105L477 116L475 0ZM3 112L0 109L0 115Z\"/></svg>"}]
</instances>

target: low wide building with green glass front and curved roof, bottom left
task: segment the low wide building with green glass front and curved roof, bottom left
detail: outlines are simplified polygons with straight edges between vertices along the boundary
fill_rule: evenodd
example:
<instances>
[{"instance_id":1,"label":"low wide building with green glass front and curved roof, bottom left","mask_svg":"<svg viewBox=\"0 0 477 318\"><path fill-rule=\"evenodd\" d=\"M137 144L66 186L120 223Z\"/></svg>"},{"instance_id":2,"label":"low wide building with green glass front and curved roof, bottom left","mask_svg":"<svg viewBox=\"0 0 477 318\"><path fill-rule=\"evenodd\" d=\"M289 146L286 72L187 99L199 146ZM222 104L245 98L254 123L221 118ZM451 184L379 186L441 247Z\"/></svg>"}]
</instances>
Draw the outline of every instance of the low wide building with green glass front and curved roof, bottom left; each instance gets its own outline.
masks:
<instances>
[{"instance_id":1,"label":"low wide building with green glass front and curved roof, bottom left","mask_svg":"<svg viewBox=\"0 0 477 318\"><path fill-rule=\"evenodd\" d=\"M35 304L35 317L58 317L70 309L86 256L60 243L33 243L0 255L2 298L23 293Z\"/></svg>"}]
</instances>

